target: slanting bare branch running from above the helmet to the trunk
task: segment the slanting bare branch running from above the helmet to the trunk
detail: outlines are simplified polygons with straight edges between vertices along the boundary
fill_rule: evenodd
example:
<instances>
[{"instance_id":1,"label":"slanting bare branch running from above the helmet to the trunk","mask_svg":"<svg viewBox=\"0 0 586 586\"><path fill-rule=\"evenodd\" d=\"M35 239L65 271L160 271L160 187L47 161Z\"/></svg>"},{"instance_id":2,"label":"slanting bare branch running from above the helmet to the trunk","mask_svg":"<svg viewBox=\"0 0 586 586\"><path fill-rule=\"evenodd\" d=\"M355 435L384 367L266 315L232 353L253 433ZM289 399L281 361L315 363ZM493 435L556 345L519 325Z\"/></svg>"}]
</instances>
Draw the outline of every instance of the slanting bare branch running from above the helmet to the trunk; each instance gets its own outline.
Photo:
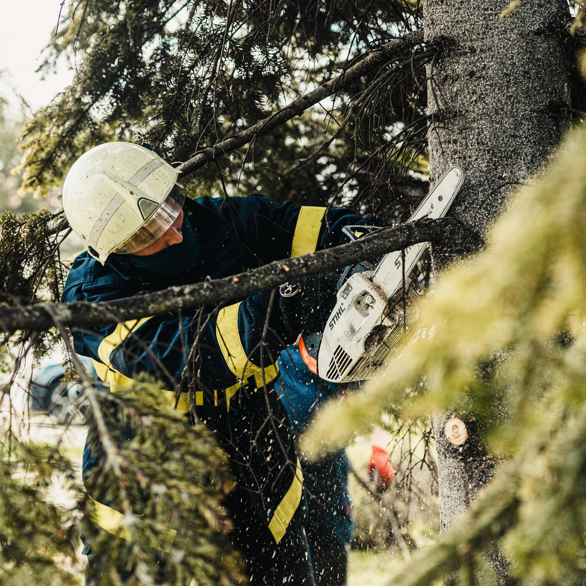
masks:
<instances>
[{"instance_id":1,"label":"slanting bare branch running from above the helmet to the trunk","mask_svg":"<svg viewBox=\"0 0 586 586\"><path fill-rule=\"evenodd\" d=\"M243 130L232 137L225 138L213 147L203 149L203 151L200 151L195 156L188 159L188 161L179 165L178 170L180 175L188 175L205 165L207 162L217 159L222 155L227 155L230 152L235 151L237 148L247 144L247 142L250 142L254 138L267 134L281 124L284 124L284 122L303 113L310 106L317 104L324 98L332 96L332 94L335 94L337 91L350 86L356 80L360 79L360 77L363 77L366 73L372 71L374 67L390 61L396 56L396 54L411 49L411 47L420 45L421 43L423 43L423 30L415 30L414 32L407 33L407 35L404 35L400 39L391 40L391 42L386 45L367 54L358 63L349 67L349 69L344 71L338 77L326 81L326 83L323 83L314 91L305 94L305 96L299 96L293 100L291 104L282 108L282 110L271 114L267 118L264 118L260 122L253 124L251 127L246 128L246 130Z\"/></svg>"}]
</instances>

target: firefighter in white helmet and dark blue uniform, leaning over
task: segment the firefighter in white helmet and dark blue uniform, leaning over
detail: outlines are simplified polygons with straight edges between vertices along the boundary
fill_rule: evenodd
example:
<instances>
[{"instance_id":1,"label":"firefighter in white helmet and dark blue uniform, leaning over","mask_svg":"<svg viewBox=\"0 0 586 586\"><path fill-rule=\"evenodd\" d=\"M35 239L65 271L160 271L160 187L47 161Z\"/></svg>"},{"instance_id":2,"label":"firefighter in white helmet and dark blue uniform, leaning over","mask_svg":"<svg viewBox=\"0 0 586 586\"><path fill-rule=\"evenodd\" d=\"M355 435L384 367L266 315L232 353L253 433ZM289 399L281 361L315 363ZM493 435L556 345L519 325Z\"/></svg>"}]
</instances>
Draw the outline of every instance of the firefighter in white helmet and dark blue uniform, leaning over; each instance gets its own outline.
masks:
<instances>
[{"instance_id":1,"label":"firefighter in white helmet and dark blue uniform, leaning over","mask_svg":"<svg viewBox=\"0 0 586 586\"><path fill-rule=\"evenodd\" d=\"M335 246L345 241L343 226L372 220L345 209L276 205L258 193L186 199L175 168L152 149L128 142L101 144L82 155L64 181L63 207L86 248L67 276L63 302L111 301L226 277ZM76 352L93 359L112 391L128 386L139 372L175 389L197 337L195 410L229 455L237 488L226 506L235 527L233 543L253 584L314 583L293 432L280 425L275 442L265 388L278 379L283 344L294 343L302 329L322 329L335 304L337 276L304 280L294 303L281 297L268 318L271 292L265 291L219 309L204 308L203 314L192 309L73 332ZM272 417L285 422L277 394L268 397ZM161 403L175 405L175 394L161 391ZM189 413L186 398L177 408ZM121 513L100 502L91 482L103 461L90 426L83 475L95 499L93 523L118 533ZM172 543L160 547L170 548ZM84 551L91 561L91 539ZM96 572L99 568L88 563L88 583Z\"/></svg>"}]
</instances>

